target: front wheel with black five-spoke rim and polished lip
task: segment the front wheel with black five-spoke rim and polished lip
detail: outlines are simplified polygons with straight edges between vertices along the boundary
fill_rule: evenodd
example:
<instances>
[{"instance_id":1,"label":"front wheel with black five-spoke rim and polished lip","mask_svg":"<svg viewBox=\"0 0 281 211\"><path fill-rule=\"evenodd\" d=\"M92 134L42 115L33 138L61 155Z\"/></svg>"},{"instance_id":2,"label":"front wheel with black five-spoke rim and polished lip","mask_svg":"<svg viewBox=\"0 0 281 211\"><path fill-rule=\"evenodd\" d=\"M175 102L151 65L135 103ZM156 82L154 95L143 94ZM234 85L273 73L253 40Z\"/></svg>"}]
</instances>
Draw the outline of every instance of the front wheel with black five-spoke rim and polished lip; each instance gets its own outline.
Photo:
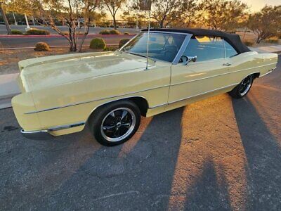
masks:
<instances>
[{"instance_id":1,"label":"front wheel with black five-spoke rim and polished lip","mask_svg":"<svg viewBox=\"0 0 281 211\"><path fill-rule=\"evenodd\" d=\"M96 141L116 146L131 139L141 122L141 111L131 101L117 101L98 108L89 119Z\"/></svg>"}]
</instances>

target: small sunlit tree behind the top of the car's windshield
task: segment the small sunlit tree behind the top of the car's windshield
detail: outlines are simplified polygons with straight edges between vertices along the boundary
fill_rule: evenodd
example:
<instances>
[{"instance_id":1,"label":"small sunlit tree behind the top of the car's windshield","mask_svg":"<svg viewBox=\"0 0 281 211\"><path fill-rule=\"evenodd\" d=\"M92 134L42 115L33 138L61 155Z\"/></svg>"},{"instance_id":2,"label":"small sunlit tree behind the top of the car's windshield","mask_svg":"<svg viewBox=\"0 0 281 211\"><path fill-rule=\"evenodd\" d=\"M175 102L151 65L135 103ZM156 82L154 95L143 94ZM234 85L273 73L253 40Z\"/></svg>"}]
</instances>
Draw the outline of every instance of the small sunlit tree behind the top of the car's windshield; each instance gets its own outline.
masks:
<instances>
[{"instance_id":1,"label":"small sunlit tree behind the top of the car's windshield","mask_svg":"<svg viewBox=\"0 0 281 211\"><path fill-rule=\"evenodd\" d=\"M160 28L165 27L165 25L168 25L178 17L178 13L181 11L184 2L183 0L152 1L151 18L157 20Z\"/></svg>"}]
</instances>

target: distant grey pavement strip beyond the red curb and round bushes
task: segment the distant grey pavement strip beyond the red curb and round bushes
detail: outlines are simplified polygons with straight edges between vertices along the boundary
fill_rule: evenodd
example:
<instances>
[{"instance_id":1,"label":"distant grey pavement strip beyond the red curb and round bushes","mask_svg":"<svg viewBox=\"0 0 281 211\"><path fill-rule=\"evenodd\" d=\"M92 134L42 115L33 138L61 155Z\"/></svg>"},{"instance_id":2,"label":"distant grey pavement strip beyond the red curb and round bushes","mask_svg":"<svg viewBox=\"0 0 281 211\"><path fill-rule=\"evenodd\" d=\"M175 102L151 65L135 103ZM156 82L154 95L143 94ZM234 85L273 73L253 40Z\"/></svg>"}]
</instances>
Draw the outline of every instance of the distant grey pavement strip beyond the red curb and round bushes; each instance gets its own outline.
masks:
<instances>
[{"instance_id":1,"label":"distant grey pavement strip beyond the red curb and round bushes","mask_svg":"<svg viewBox=\"0 0 281 211\"><path fill-rule=\"evenodd\" d=\"M30 26L30 27L35 27L35 28L38 28L38 29L44 29L44 30L48 30L49 32L51 32L51 34L57 34L57 32L55 32L54 30L50 29L50 27L44 27L44 26L39 26L39 25L36 25L36 26ZM22 32L25 32L25 28L26 28L26 25L11 25L11 29L12 30L20 30ZM67 27L58 27L60 30L62 31L67 31ZM112 28L104 28L104 27L91 27L90 30L89 30L89 33L93 33L93 34L98 34L98 32L100 32L101 30L112 30ZM135 28L118 28L118 30L120 32L130 32L130 33L136 33L138 32L137 29ZM6 27L5 25L0 25L0 34L7 34L7 30L6 30Z\"/></svg>"}]
</instances>

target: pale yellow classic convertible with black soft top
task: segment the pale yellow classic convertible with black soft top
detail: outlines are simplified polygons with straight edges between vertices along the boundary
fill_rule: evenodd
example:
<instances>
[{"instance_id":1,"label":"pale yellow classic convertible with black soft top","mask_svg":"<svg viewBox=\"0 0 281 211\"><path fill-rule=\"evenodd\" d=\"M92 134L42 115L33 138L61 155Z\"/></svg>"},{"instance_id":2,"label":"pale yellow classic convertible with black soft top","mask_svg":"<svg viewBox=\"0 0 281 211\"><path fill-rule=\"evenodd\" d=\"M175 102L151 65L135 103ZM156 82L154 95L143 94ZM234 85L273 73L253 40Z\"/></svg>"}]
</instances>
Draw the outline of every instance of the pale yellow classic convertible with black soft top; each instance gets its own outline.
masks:
<instances>
[{"instance_id":1,"label":"pale yellow classic convertible with black soft top","mask_svg":"<svg viewBox=\"0 0 281 211\"><path fill-rule=\"evenodd\" d=\"M115 52L20 61L22 93L12 105L28 138L70 134L87 125L97 141L114 146L135 134L141 115L225 92L244 97L276 63L277 54L251 51L236 34L144 30Z\"/></svg>"}]
</instances>

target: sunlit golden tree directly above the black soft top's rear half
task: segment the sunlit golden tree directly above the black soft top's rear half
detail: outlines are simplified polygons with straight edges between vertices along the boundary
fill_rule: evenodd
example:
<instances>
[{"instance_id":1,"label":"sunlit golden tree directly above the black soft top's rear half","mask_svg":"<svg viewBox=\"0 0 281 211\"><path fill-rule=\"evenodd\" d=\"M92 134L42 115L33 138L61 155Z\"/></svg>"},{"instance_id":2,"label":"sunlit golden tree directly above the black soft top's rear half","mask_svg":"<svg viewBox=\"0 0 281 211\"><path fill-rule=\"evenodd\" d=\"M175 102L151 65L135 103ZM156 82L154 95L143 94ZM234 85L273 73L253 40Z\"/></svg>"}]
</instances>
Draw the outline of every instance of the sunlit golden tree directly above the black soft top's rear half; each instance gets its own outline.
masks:
<instances>
[{"instance_id":1,"label":"sunlit golden tree directly above the black soft top's rear half","mask_svg":"<svg viewBox=\"0 0 281 211\"><path fill-rule=\"evenodd\" d=\"M248 6L239 0L203 0L201 21L212 30L233 31L247 17Z\"/></svg>"}]
</instances>

